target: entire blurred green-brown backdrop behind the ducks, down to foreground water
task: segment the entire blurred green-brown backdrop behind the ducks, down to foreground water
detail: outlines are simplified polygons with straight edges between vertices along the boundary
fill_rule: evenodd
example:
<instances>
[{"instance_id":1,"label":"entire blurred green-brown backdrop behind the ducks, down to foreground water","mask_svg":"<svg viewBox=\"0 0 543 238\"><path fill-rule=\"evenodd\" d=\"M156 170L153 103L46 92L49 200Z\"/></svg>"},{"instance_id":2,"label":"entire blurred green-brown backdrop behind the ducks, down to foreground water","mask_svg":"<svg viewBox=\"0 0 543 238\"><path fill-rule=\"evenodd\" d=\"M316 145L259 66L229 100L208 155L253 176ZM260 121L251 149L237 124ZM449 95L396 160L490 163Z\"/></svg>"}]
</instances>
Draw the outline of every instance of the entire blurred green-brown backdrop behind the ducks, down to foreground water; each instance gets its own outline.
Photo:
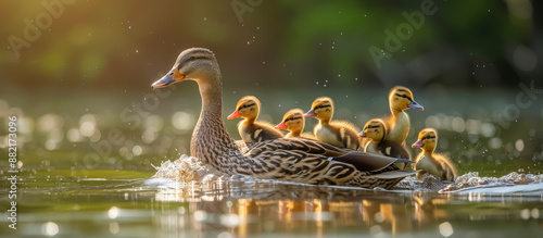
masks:
<instances>
[{"instance_id":1,"label":"entire blurred green-brown backdrop behind the ducks, down to foreground water","mask_svg":"<svg viewBox=\"0 0 543 238\"><path fill-rule=\"evenodd\" d=\"M336 118L362 127L388 114L389 89L404 85L426 109L408 111L408 145L431 126L438 150L460 173L543 171L540 1L0 4L0 148L7 151L7 116L18 115L22 170L152 172L150 164L188 153L200 110L195 84L150 85L181 50L205 47L220 64L225 115L255 95L261 118L279 123L326 95ZM424 22L416 27L405 15ZM238 122L226 123L239 138Z\"/></svg>"}]
</instances>

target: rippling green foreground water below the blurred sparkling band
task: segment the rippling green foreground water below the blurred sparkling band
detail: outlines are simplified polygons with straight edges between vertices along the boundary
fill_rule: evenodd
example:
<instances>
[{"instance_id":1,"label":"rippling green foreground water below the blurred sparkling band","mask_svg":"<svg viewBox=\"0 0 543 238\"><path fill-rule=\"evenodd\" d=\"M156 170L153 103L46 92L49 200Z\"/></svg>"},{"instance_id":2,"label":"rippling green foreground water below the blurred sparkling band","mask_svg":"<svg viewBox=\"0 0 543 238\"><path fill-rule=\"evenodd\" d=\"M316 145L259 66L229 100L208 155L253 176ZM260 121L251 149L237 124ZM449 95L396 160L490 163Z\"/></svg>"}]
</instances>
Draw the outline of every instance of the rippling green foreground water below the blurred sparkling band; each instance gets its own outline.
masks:
<instances>
[{"instance_id":1,"label":"rippling green foreground water below the blurred sparkling band","mask_svg":"<svg viewBox=\"0 0 543 238\"><path fill-rule=\"evenodd\" d=\"M151 175L21 173L17 229L2 221L0 231L2 237L536 237L543 230L541 190L374 191L251 179L174 188ZM5 189L0 196L5 204Z\"/></svg>"}]
</instances>

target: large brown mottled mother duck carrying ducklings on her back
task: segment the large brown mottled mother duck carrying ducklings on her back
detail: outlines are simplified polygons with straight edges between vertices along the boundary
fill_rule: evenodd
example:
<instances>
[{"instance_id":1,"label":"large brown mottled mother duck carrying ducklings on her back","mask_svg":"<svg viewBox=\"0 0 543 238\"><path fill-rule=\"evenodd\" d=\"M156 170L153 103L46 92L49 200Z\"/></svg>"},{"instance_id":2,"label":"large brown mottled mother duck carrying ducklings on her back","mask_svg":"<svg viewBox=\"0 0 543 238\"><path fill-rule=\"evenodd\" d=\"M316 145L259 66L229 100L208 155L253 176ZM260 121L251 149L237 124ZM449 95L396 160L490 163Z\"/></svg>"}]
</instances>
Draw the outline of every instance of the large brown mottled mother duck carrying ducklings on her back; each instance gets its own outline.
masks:
<instances>
[{"instance_id":1,"label":"large brown mottled mother duck carrying ducklings on her back","mask_svg":"<svg viewBox=\"0 0 543 238\"><path fill-rule=\"evenodd\" d=\"M202 111L190 142L190 153L227 174L244 174L315 185L343 185L390 189L416 171L399 170L394 162L407 162L337 148L303 138L280 138L255 143L241 152L223 122L223 83L212 51L182 51L173 68L152 88L182 80L197 82Z\"/></svg>"}]
</instances>

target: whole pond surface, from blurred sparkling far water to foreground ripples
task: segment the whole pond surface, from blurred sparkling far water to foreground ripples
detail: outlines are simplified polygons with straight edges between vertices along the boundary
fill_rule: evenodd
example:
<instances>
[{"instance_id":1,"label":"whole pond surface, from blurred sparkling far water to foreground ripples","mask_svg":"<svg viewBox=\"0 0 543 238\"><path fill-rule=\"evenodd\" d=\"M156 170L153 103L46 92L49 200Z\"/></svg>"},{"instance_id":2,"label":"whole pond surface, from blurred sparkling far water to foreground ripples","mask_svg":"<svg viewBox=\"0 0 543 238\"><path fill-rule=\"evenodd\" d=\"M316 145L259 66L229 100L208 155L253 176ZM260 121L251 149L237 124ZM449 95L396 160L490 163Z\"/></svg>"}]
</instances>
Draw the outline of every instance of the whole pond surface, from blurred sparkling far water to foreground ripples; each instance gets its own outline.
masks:
<instances>
[{"instance_id":1,"label":"whole pond surface, from blurred sparkling far water to foreground ripples","mask_svg":"<svg viewBox=\"0 0 543 238\"><path fill-rule=\"evenodd\" d=\"M538 237L543 231L541 183L509 186L520 189L516 192L440 193L405 186L382 191L247 178L190 185L153 179L153 165L188 153L200 105L192 86L187 87L141 115L123 111L134 110L131 104L142 102L146 93L118 100L108 93L43 92L47 100L39 93L0 100L3 112L18 115L20 161L16 230L9 227L7 212L13 201L9 163L0 161L2 237ZM334 118L362 126L384 115L386 93L330 93L338 104ZM504 125L494 115L514 103L516 92L492 98L494 93L417 92L426 110L408 112L407 143L432 126L440 134L438 151L451 158L459 175L541 174L541 105ZM242 95L225 90L224 114ZM281 93L257 95L265 105L261 118L273 123L288 109L308 109L320 96L302 91L303 100L295 101ZM71 97L77 103L65 101ZM466 107L476 99L479 104ZM233 137L237 123L226 121ZM307 121L306 128L313 125ZM7 135L8 128L0 133ZM7 154L5 145L0 146Z\"/></svg>"}]
</instances>

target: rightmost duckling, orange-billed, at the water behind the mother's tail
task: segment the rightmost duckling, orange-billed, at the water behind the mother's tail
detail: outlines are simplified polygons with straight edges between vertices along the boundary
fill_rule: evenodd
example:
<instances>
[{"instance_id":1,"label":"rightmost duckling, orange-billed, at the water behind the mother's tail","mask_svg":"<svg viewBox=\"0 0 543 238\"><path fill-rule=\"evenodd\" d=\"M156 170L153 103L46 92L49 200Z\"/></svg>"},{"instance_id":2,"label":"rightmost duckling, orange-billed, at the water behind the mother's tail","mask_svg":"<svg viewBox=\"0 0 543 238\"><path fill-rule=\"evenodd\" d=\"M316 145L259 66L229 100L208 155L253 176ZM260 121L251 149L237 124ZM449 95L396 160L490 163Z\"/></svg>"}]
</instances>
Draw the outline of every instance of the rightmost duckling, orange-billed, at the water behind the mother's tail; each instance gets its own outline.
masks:
<instances>
[{"instance_id":1,"label":"rightmost duckling, orange-billed, at the water behind the mother's tail","mask_svg":"<svg viewBox=\"0 0 543 238\"><path fill-rule=\"evenodd\" d=\"M434 154L438 145L438 131L434 128L425 128L418 134L418 140L413 143L413 148L420 148L422 151L417 155L415 170L422 170L417 174L420 179L421 173L429 173L442 180L454 181L456 168L453 163L443 154Z\"/></svg>"}]
</instances>

